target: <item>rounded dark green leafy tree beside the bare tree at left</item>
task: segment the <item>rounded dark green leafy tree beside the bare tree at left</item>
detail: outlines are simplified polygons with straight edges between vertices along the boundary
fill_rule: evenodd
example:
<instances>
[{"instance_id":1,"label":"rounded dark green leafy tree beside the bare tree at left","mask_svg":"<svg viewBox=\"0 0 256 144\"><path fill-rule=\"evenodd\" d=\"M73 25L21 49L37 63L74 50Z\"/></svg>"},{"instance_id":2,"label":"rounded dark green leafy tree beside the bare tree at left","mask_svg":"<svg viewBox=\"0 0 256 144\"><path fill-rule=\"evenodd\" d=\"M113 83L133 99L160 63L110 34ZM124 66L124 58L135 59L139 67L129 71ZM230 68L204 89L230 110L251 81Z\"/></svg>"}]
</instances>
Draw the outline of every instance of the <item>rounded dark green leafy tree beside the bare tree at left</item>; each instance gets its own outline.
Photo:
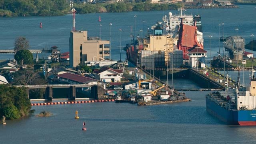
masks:
<instances>
[{"instance_id":1,"label":"rounded dark green leafy tree beside the bare tree at left","mask_svg":"<svg viewBox=\"0 0 256 144\"><path fill-rule=\"evenodd\" d=\"M24 64L31 64L33 62L33 55L29 50L19 50L14 55L14 58L19 64L23 64L22 60Z\"/></svg>"}]
</instances>

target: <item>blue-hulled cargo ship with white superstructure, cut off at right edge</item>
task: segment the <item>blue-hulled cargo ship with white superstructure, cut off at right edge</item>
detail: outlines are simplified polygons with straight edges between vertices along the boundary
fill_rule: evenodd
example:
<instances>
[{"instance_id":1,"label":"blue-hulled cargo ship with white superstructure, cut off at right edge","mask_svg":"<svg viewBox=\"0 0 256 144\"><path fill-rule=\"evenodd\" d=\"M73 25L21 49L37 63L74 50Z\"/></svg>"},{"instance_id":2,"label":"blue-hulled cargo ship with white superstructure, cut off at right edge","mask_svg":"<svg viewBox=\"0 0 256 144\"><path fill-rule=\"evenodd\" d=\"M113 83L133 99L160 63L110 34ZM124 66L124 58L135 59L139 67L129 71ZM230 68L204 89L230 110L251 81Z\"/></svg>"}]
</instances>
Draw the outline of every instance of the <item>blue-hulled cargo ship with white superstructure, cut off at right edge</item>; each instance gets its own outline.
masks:
<instances>
[{"instance_id":1,"label":"blue-hulled cargo ship with white superstructure, cut off at right edge","mask_svg":"<svg viewBox=\"0 0 256 144\"><path fill-rule=\"evenodd\" d=\"M238 76L236 88L206 95L207 112L227 124L256 126L256 79L254 72L252 70L250 85L240 86Z\"/></svg>"}]
</instances>

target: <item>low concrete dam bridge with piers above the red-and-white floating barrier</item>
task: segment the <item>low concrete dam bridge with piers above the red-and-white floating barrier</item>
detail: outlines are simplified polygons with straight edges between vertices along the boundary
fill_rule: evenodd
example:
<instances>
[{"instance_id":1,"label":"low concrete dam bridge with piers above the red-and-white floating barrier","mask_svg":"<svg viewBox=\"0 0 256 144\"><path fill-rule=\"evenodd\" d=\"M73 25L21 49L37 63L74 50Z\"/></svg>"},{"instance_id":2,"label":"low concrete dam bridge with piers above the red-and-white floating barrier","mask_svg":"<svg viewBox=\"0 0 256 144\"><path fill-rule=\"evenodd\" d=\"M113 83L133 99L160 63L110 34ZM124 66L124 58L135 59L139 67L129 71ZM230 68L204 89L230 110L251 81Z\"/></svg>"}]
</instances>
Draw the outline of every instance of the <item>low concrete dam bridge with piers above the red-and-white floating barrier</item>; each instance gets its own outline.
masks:
<instances>
[{"instance_id":1,"label":"low concrete dam bridge with piers above the red-and-white floating barrier","mask_svg":"<svg viewBox=\"0 0 256 144\"><path fill-rule=\"evenodd\" d=\"M99 84L98 84L99 85ZM98 85L95 84L42 84L42 85L14 85L16 87L25 87L29 98L30 89L45 88L44 99L52 100L53 88L69 88L68 99L76 100L76 88L91 88L91 94L98 98Z\"/></svg>"}]
</instances>

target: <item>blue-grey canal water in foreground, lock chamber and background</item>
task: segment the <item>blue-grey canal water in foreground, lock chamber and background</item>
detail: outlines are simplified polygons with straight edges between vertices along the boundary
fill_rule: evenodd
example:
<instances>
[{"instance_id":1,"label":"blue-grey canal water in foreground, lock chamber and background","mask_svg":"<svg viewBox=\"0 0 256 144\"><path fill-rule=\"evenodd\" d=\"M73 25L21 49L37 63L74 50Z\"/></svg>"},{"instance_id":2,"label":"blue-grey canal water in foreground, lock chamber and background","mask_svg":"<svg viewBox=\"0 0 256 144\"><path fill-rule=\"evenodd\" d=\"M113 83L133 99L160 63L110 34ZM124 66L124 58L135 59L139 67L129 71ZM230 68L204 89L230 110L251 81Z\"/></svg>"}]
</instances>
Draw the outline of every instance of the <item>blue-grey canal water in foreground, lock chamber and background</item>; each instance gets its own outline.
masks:
<instances>
[{"instance_id":1,"label":"blue-grey canal water in foreground, lock chamber and background","mask_svg":"<svg viewBox=\"0 0 256 144\"><path fill-rule=\"evenodd\" d=\"M122 47L129 43L130 26L145 30L161 20L169 11L125 12L78 14L76 28L88 30L89 36L99 36L98 16L102 20L102 39L109 38L109 23L112 22L112 58L119 58L119 29ZM172 10L175 14L178 11ZM186 13L200 14L204 30L204 48L210 50L208 35L212 35L212 55L219 50L218 24L224 22L224 35L244 36L246 43L250 34L256 33L255 6L241 5L236 9L190 9ZM39 28L42 22L43 28ZM0 49L12 49L14 39L26 36L32 48L58 46L62 52L68 51L68 38L72 28L72 15L57 17L17 17L0 18ZM133 31L134 33L134 31ZM136 32L136 34L138 34ZM222 47L221 47L222 48ZM12 55L1 54L0 59ZM122 51L122 58L125 52ZM231 74L236 76L236 73ZM242 72L240 72L240 77ZM248 78L248 74L245 76ZM171 84L169 80L169 85ZM174 80L176 88L198 88L188 80ZM137 106L136 104L99 102L86 104L33 106L36 113L28 118L7 120L0 125L1 144L170 144L170 143L256 143L254 126L230 126L206 112L205 95L208 92L186 92L191 102L164 104L156 106ZM53 116L36 117L41 111L49 111ZM80 119L74 119L78 110ZM82 131L86 122L87 131Z\"/></svg>"}]
</instances>

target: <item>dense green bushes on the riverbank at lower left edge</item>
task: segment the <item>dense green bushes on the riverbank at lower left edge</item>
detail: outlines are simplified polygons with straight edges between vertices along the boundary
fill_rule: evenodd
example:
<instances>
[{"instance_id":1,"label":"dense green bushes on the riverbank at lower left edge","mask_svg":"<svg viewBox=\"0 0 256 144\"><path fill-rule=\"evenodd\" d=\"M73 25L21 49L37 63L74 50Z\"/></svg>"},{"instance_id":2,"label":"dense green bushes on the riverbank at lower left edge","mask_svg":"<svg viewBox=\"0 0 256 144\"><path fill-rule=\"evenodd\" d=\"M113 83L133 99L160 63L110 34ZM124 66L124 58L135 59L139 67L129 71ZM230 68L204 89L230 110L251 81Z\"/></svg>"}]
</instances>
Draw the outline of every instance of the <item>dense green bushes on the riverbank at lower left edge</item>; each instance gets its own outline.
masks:
<instances>
[{"instance_id":1,"label":"dense green bushes on the riverbank at lower left edge","mask_svg":"<svg viewBox=\"0 0 256 144\"><path fill-rule=\"evenodd\" d=\"M26 88L0 84L0 116L6 119L17 119L28 116L31 104Z\"/></svg>"}]
</instances>

